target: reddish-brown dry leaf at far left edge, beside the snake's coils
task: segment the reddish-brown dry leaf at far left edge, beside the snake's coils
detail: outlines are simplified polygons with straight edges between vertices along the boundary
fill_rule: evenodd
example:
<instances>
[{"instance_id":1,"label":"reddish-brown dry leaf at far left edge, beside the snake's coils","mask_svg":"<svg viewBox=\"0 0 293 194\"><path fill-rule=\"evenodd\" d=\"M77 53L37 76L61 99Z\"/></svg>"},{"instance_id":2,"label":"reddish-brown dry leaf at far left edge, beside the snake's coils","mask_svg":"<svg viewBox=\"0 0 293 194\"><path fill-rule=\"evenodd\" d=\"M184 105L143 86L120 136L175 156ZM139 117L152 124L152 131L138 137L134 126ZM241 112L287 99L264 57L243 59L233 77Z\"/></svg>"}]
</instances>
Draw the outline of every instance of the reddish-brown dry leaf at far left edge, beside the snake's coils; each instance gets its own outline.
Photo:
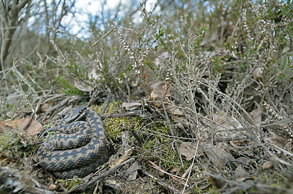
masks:
<instances>
[{"instance_id":1,"label":"reddish-brown dry leaf at far left edge, beside the snake's coils","mask_svg":"<svg viewBox=\"0 0 293 194\"><path fill-rule=\"evenodd\" d=\"M7 132L7 127L10 129L16 128L16 129L22 129L26 123L30 120L30 117L22 118L22 119L15 119L13 121L0 121L0 127L1 129ZM6 127L5 127L6 126ZM42 131L42 124L38 121L32 120L30 125L26 129L27 132L29 132L32 136L40 133Z\"/></svg>"}]
</instances>

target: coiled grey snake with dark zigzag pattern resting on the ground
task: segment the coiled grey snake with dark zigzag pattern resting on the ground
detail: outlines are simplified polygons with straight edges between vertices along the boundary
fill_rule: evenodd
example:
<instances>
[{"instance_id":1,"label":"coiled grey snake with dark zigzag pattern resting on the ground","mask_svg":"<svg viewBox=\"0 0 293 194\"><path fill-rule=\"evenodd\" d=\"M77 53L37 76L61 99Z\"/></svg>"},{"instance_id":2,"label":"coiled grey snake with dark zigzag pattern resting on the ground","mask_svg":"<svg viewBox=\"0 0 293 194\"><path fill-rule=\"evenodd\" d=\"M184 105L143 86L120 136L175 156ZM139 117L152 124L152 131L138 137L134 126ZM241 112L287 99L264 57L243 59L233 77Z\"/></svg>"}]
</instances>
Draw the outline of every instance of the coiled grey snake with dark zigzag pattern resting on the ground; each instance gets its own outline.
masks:
<instances>
[{"instance_id":1,"label":"coiled grey snake with dark zigzag pattern resting on the ground","mask_svg":"<svg viewBox=\"0 0 293 194\"><path fill-rule=\"evenodd\" d=\"M108 160L105 126L95 110L78 107L56 128L60 133L44 141L37 151L40 165L56 177L83 177Z\"/></svg>"}]
</instances>

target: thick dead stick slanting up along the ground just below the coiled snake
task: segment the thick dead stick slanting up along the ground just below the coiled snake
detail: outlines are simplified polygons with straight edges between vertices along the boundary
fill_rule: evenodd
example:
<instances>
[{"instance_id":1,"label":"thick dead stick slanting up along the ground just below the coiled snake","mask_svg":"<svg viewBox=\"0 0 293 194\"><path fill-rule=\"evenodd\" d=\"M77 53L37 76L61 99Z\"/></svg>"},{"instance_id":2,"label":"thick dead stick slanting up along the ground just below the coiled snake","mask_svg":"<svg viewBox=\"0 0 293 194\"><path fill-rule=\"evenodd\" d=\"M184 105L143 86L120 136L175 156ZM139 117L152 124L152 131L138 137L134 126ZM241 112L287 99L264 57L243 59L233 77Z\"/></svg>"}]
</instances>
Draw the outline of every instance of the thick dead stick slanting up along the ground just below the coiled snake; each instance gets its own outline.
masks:
<instances>
[{"instance_id":1,"label":"thick dead stick slanting up along the ground just below the coiled snake","mask_svg":"<svg viewBox=\"0 0 293 194\"><path fill-rule=\"evenodd\" d=\"M84 191L91 184L97 182L98 180L100 180L102 178L105 178L106 176L111 175L113 172L117 171L119 168L121 168L122 166L126 165L129 162L132 162L133 160L134 160L134 158L128 159L128 160L122 162L121 164L119 164L119 165L117 165L117 166L115 166L113 168L110 168L105 173L101 173L101 175L95 177L94 179L92 179L91 181L86 183L85 185L77 185L76 187L74 187L71 190L69 190L66 194L72 193L74 191Z\"/></svg>"}]
</instances>

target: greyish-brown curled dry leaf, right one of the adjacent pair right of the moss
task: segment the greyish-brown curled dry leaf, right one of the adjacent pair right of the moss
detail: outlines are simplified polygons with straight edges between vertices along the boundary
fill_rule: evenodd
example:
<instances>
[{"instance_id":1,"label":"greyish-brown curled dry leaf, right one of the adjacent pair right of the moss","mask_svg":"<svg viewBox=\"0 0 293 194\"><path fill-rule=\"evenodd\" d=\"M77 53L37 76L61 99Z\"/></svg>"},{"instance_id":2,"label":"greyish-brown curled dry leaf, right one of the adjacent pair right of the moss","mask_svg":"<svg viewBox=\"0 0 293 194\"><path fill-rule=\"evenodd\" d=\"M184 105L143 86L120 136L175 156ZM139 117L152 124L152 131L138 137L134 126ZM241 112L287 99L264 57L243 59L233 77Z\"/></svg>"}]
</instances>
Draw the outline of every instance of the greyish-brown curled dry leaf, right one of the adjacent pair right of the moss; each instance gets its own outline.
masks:
<instances>
[{"instance_id":1,"label":"greyish-brown curled dry leaf, right one of the adjacent pair right of the moss","mask_svg":"<svg viewBox=\"0 0 293 194\"><path fill-rule=\"evenodd\" d=\"M219 143L215 146L206 144L204 151L211 163L218 168L224 167L227 163L227 159L232 158L227 143Z\"/></svg>"}]
</instances>

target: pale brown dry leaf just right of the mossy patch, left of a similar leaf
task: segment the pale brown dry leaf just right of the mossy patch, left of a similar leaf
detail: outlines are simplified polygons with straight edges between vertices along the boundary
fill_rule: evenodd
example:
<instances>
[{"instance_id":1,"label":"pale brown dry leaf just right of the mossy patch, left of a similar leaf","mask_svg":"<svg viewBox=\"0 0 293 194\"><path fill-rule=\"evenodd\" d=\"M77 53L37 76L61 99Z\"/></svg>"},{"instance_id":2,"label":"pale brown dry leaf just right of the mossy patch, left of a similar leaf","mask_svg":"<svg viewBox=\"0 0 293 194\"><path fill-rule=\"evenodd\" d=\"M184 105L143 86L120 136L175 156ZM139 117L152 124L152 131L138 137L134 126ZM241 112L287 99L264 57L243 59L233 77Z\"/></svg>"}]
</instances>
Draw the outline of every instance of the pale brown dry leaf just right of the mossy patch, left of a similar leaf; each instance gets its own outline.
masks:
<instances>
[{"instance_id":1,"label":"pale brown dry leaf just right of the mossy patch, left of a similar leaf","mask_svg":"<svg viewBox=\"0 0 293 194\"><path fill-rule=\"evenodd\" d=\"M194 142L183 142L179 147L181 155L185 156L187 160L193 159L196 150L196 145L197 143ZM198 145L196 157L202 156L203 152L203 148L200 145Z\"/></svg>"}]
</instances>

